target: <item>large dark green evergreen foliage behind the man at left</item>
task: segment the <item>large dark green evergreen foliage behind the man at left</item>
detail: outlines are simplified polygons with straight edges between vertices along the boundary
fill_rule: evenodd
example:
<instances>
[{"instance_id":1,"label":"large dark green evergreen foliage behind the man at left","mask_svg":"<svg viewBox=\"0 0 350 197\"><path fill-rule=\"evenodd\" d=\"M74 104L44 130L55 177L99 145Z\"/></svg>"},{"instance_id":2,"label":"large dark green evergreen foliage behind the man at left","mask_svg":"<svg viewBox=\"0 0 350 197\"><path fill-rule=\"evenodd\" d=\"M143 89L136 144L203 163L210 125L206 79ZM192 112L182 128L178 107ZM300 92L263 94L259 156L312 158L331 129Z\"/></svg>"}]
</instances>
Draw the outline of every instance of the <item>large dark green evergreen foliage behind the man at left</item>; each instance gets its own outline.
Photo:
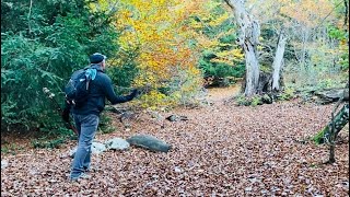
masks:
<instances>
[{"instance_id":1,"label":"large dark green evergreen foliage behind the man at left","mask_svg":"<svg viewBox=\"0 0 350 197\"><path fill-rule=\"evenodd\" d=\"M1 130L70 134L61 129L43 88L63 105L62 88L72 71L88 66L92 53L118 50L118 34L106 15L90 13L84 1L40 1L31 12L30 1L1 5Z\"/></svg>"}]
</instances>

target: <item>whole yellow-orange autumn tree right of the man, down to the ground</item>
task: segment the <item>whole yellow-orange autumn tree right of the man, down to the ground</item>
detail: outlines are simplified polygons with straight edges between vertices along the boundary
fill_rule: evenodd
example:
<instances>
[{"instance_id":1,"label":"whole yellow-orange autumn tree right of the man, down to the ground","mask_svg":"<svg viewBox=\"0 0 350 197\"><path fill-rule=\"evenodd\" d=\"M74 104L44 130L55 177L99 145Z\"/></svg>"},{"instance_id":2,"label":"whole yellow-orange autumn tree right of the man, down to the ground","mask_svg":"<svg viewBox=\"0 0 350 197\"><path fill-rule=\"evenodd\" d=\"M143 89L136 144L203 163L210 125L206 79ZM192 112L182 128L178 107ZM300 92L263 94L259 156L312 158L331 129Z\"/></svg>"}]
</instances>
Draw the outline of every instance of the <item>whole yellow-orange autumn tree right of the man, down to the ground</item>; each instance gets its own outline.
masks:
<instances>
[{"instance_id":1,"label":"whole yellow-orange autumn tree right of the man, down to the ground","mask_svg":"<svg viewBox=\"0 0 350 197\"><path fill-rule=\"evenodd\" d=\"M184 104L192 100L202 85L197 68L198 47L187 23L198 2L180 0L120 1L114 22L121 35L117 57L133 53L139 70L136 86L151 86L140 97L142 106ZM115 58L114 67L121 65ZM188 101L190 102L190 101Z\"/></svg>"}]
</instances>

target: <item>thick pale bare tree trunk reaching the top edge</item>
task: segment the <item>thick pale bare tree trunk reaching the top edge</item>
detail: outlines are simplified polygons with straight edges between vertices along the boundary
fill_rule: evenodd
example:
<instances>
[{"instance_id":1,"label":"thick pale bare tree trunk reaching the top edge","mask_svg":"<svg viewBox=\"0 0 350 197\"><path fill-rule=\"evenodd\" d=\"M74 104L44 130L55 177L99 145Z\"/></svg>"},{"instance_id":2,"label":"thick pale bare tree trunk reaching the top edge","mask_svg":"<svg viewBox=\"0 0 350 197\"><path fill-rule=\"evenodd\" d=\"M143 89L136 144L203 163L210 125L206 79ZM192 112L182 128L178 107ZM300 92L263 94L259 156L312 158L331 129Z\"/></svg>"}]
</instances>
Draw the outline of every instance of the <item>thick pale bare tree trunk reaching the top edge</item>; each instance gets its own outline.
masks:
<instances>
[{"instance_id":1,"label":"thick pale bare tree trunk reaching the top edge","mask_svg":"<svg viewBox=\"0 0 350 197\"><path fill-rule=\"evenodd\" d=\"M246 66L244 94L252 96L256 94L259 82L260 68L257 58L257 45L259 43L260 26L245 10L243 0L225 0L225 2L233 10L236 24L240 27L237 44L244 49Z\"/></svg>"}]
</instances>

